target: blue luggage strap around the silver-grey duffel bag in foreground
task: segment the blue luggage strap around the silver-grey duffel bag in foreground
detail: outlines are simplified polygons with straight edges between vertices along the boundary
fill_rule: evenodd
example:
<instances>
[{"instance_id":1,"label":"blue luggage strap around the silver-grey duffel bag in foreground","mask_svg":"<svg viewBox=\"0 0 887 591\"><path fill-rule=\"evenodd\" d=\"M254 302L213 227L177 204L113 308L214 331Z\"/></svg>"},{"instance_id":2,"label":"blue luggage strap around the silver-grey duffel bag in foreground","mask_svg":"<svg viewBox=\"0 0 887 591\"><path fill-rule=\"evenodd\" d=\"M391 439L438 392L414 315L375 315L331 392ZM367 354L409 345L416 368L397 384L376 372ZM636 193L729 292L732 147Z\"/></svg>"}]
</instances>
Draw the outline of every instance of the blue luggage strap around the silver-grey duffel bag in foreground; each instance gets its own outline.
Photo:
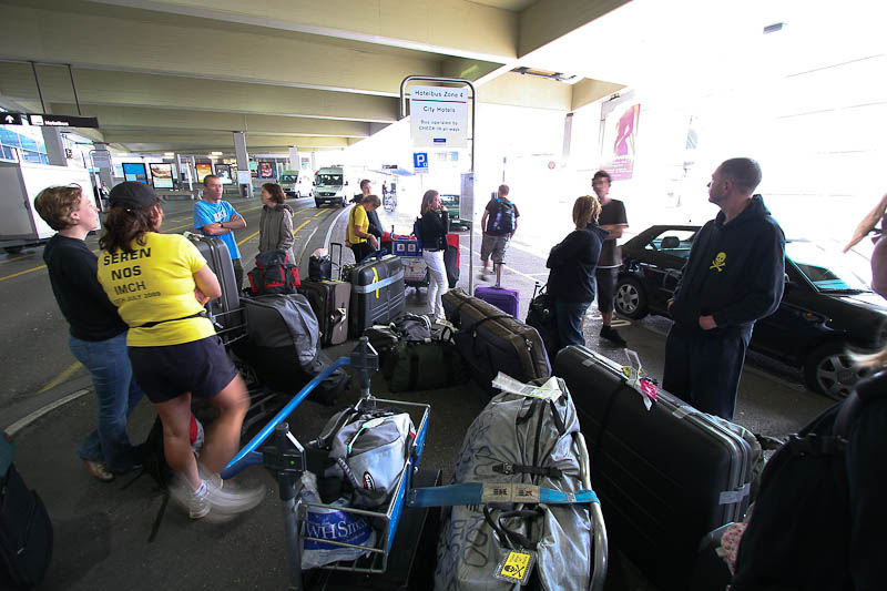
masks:
<instances>
[{"instance_id":1,"label":"blue luggage strap around the silver-grey duffel bag in foreground","mask_svg":"<svg viewBox=\"0 0 887 591\"><path fill-rule=\"evenodd\" d=\"M453 507L488 502L544 502L547 505L584 505L600 499L593 490L565 492L520 482L465 482L442 487L414 488L407 495L408 507Z\"/></svg>"}]
</instances>

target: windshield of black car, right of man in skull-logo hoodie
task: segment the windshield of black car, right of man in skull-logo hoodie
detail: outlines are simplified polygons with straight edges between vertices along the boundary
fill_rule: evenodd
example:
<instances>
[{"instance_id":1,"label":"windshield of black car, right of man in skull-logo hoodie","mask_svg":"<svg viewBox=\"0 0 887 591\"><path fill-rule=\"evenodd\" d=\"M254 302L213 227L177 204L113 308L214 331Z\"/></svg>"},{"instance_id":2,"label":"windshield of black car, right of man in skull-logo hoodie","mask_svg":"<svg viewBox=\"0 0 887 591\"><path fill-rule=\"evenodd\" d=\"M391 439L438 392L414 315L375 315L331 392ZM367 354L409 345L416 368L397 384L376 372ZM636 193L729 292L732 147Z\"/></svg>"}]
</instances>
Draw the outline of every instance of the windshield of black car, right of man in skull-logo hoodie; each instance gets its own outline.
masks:
<instances>
[{"instance_id":1,"label":"windshield of black car, right of man in skull-logo hoodie","mask_svg":"<svg viewBox=\"0 0 887 591\"><path fill-rule=\"evenodd\" d=\"M848 255L806 241L786 242L785 254L819 292L858 294L871 291L867 277L854 268Z\"/></svg>"}]
</instances>

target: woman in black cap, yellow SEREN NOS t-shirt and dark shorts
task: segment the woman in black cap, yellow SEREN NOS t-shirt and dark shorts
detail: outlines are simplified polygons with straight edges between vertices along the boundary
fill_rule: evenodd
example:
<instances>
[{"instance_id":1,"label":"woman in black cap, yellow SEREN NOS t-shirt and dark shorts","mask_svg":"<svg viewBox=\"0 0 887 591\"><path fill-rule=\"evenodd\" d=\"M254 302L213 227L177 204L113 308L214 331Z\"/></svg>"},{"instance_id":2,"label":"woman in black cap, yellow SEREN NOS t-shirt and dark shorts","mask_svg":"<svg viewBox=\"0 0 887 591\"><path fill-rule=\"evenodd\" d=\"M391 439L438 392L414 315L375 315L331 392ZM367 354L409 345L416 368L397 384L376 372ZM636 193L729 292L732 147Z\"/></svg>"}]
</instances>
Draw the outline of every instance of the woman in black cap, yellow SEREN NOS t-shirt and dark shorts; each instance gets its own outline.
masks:
<instances>
[{"instance_id":1,"label":"woman in black cap, yellow SEREN NOS t-shirt and dark shorts","mask_svg":"<svg viewBox=\"0 0 887 591\"><path fill-rule=\"evenodd\" d=\"M173 497L192 519L252 509L264 489L223 491L218 477L237 451L249 408L246 385L204 309L222 294L218 279L187 238L159 234L163 210L151 187L121 183L110 205L99 283L130 327L133 374L163 422L163 450L177 477ZM218 409L200 465L188 438L192 396Z\"/></svg>"}]
</instances>

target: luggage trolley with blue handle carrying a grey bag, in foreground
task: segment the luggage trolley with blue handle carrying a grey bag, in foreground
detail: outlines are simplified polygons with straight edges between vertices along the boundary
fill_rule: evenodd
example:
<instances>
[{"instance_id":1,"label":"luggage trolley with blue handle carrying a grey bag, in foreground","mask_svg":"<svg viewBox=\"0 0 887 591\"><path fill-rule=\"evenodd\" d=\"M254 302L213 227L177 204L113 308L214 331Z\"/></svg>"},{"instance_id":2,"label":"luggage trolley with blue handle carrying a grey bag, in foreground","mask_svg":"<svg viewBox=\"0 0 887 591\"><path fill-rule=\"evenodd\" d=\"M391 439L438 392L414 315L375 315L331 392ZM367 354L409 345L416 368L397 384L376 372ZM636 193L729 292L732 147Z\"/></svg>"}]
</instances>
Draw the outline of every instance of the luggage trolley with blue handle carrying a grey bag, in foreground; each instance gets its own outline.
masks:
<instances>
[{"instance_id":1,"label":"luggage trolley with blue handle carrying a grey bag, in foreground","mask_svg":"<svg viewBox=\"0 0 887 591\"><path fill-rule=\"evenodd\" d=\"M332 506L325 503L306 502L299 498L302 475L306 470L318 471L322 458L315 450L305 449L302 444L289 432L288 424L284 419L295 410L302 400L323 379L339 367L350 365L358 377L363 397L356 408L360 410L384 407L408 412L416 428L416 438L410 445L409 455L405 460L404 469L397 479L394 493L388 503L378 511L357 509L350 507ZM289 588L305 589L302 571L302 550L306 541L319 542L330 547L355 548L369 553L356 560L339 561L320 567L325 570L350 571L366 574L384 573L388 567L388 558L394 543L395 533L404 511L405 501L411 487L412 477L418 470L419 459L425 449L428 432L430 406L400 400L386 400L375 398L369 394L369 376L378 369L378 356L366 337L355 347L351 357L340 357L327 370L309 381L259 432L228 462L222 472L223 478L231 478L248 466L264 463L277 479L281 500L283 501L284 530L286 534L287 559L289 563ZM273 434L273 439L265 445L263 451L256 451ZM323 451L326 456L326 451ZM335 540L326 540L307 536L306 522L309 507L335 509L347 513L361 516L373 523L378 532L373 547L354 546Z\"/></svg>"}]
</instances>

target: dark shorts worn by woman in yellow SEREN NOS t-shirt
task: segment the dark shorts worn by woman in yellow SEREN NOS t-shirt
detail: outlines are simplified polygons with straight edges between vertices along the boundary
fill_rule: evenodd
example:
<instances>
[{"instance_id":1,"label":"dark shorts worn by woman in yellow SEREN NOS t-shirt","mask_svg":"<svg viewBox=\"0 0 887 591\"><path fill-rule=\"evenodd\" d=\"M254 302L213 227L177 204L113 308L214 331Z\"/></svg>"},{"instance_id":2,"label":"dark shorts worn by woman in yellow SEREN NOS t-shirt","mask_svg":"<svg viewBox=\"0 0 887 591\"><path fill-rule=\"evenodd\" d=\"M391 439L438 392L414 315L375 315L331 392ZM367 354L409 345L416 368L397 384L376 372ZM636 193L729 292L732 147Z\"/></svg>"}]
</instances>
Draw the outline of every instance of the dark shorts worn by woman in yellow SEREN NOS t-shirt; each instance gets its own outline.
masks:
<instances>
[{"instance_id":1,"label":"dark shorts worn by woman in yellow SEREN NOS t-shirt","mask_svg":"<svg viewBox=\"0 0 887 591\"><path fill-rule=\"evenodd\" d=\"M212 398L237 375L215 335L181 345L128 347L128 351L135 381L155 405L185 393Z\"/></svg>"}]
</instances>

